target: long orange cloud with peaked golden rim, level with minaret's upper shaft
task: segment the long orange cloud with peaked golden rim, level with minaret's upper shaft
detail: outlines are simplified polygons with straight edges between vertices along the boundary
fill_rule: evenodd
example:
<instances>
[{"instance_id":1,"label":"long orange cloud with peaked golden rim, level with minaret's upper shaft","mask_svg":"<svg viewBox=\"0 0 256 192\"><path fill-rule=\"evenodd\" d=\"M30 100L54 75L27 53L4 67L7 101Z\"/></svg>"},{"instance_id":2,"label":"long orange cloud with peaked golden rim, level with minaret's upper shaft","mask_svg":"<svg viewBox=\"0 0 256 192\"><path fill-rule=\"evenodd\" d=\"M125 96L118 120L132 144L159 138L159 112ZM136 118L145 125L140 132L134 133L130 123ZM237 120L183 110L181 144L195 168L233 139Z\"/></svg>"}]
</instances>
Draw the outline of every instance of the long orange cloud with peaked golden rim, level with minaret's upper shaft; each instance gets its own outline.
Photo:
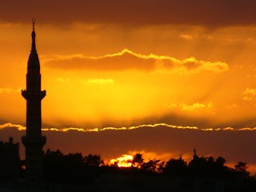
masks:
<instances>
[{"instance_id":1,"label":"long orange cloud with peaked golden rim, level with minaret's upper shaft","mask_svg":"<svg viewBox=\"0 0 256 192\"><path fill-rule=\"evenodd\" d=\"M56 56L47 58L46 65L74 70L164 70L181 74L202 70L222 72L229 68L226 62L206 62L197 58L179 60L169 56L137 54L131 50L122 50L119 53L100 57L85 57L79 54Z\"/></svg>"}]
</instances>

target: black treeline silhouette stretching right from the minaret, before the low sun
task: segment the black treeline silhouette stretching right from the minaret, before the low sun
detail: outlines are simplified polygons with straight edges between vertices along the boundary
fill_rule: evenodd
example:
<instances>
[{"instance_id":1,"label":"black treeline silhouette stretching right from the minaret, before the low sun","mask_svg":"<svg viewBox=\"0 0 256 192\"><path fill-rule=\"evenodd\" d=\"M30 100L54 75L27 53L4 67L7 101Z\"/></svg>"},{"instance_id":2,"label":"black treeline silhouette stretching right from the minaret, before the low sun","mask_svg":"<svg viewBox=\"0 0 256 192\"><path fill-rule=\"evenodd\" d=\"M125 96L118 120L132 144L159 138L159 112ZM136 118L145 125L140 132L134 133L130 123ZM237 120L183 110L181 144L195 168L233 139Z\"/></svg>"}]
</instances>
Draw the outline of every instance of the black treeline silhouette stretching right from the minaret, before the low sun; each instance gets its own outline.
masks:
<instances>
[{"instance_id":1,"label":"black treeline silhouette stretching right from the minaret, before the low sun","mask_svg":"<svg viewBox=\"0 0 256 192\"><path fill-rule=\"evenodd\" d=\"M118 163L107 164L98 154L62 154L60 150L47 150L43 159L44 178L51 182L85 182L100 174L159 175L180 178L216 178L255 182L250 176L246 162L238 162L233 168L225 165L225 158L199 157L194 150L190 162L182 156L167 162L158 159L143 159L143 154L134 154L131 166L122 168Z\"/></svg>"}]
</instances>

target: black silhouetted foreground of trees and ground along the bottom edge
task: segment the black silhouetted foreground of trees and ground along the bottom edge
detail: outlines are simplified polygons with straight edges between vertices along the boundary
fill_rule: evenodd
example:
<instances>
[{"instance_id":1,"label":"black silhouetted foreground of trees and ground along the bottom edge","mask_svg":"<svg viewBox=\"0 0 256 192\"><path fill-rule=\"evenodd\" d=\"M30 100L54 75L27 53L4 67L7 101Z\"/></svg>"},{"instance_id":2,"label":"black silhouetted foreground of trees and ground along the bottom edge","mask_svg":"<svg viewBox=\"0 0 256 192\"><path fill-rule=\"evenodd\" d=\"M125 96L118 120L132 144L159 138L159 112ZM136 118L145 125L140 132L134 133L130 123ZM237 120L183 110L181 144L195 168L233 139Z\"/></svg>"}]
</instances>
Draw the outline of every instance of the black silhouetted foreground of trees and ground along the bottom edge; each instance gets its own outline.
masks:
<instances>
[{"instance_id":1,"label":"black silhouetted foreground of trees and ground along the bottom edge","mask_svg":"<svg viewBox=\"0 0 256 192\"><path fill-rule=\"evenodd\" d=\"M43 155L43 179L26 180L25 162L19 174L1 174L0 191L254 191L256 177L246 170L246 162L234 168L222 157L199 157L194 150L190 162L182 156L167 162L143 160L134 154L130 167L118 162L106 164L100 155L62 154L47 150Z\"/></svg>"}]
</instances>

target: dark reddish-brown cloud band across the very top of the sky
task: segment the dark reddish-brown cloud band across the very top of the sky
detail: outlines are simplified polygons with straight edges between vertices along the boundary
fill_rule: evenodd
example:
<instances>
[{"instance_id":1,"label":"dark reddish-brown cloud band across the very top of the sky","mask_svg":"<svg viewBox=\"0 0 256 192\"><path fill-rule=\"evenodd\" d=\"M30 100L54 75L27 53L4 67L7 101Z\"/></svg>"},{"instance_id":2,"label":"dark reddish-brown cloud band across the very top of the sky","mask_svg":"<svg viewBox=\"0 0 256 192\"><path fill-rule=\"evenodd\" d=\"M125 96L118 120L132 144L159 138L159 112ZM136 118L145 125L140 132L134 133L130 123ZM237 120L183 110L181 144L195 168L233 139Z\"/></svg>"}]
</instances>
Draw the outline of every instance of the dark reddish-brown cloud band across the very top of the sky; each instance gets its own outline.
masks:
<instances>
[{"instance_id":1,"label":"dark reddish-brown cloud band across the very top of the sky","mask_svg":"<svg viewBox=\"0 0 256 192\"><path fill-rule=\"evenodd\" d=\"M130 25L189 24L201 26L253 25L252 0L2 0L4 22L116 23Z\"/></svg>"}]
</instances>

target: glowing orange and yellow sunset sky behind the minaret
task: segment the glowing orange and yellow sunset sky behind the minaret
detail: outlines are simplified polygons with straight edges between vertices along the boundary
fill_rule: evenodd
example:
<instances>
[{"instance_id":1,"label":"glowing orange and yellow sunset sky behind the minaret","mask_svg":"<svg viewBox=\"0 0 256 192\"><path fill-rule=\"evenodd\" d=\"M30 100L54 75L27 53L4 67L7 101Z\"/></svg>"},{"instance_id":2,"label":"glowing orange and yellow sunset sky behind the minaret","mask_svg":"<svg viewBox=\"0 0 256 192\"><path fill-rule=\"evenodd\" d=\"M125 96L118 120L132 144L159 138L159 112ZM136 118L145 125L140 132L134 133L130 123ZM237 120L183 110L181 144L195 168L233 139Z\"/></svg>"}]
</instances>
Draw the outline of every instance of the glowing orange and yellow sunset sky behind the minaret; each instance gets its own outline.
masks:
<instances>
[{"instance_id":1,"label":"glowing orange and yellow sunset sky behind the minaret","mask_svg":"<svg viewBox=\"0 0 256 192\"><path fill-rule=\"evenodd\" d=\"M197 147L256 164L255 10L250 0L2 0L0 140L24 134L36 18L46 147L103 158Z\"/></svg>"}]
</instances>

